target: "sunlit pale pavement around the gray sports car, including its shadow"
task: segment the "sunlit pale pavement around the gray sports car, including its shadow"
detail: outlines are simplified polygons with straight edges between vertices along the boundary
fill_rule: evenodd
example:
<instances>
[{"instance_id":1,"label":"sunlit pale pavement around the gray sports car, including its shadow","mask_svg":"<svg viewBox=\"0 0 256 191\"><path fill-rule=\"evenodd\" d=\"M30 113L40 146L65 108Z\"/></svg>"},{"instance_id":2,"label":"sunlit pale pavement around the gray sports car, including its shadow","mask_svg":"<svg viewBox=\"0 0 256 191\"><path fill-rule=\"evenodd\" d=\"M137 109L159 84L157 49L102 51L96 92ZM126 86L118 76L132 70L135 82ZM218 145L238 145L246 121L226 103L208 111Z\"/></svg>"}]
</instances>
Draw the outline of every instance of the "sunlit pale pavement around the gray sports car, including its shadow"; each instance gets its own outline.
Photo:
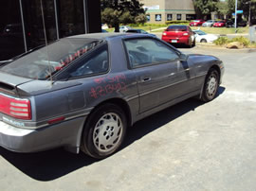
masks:
<instances>
[{"instance_id":1,"label":"sunlit pale pavement around the gray sports car, including its shadow","mask_svg":"<svg viewBox=\"0 0 256 191\"><path fill-rule=\"evenodd\" d=\"M123 148L101 161L61 148L0 148L0 190L255 190L256 53L181 50L224 61L213 101L189 99L139 121Z\"/></svg>"}]
</instances>

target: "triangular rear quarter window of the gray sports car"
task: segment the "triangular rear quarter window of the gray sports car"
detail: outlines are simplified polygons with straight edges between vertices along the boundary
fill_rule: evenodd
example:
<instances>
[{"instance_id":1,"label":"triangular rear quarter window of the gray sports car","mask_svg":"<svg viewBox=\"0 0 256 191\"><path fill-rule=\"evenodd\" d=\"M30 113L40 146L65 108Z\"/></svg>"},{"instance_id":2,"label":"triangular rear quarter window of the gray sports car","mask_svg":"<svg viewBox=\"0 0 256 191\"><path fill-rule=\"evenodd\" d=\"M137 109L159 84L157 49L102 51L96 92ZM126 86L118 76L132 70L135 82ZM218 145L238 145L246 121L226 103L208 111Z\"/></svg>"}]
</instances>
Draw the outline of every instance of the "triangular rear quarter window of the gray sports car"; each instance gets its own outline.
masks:
<instances>
[{"instance_id":1,"label":"triangular rear quarter window of the gray sports car","mask_svg":"<svg viewBox=\"0 0 256 191\"><path fill-rule=\"evenodd\" d=\"M87 57L74 63L59 78L76 78L83 76L97 75L107 72L109 69L107 44L96 49Z\"/></svg>"}]
</instances>

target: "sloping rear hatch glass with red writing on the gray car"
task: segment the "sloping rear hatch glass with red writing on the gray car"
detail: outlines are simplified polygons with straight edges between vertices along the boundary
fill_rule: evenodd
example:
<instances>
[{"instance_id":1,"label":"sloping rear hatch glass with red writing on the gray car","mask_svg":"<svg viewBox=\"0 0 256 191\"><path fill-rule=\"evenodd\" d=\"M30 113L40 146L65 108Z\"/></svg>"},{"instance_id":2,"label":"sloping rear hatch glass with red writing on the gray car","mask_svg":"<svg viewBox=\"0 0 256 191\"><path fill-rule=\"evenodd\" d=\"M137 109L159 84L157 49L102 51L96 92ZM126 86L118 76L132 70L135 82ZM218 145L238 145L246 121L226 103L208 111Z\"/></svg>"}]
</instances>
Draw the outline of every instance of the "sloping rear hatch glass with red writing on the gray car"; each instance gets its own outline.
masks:
<instances>
[{"instance_id":1,"label":"sloping rear hatch glass with red writing on the gray car","mask_svg":"<svg viewBox=\"0 0 256 191\"><path fill-rule=\"evenodd\" d=\"M65 38L8 63L0 72L24 78L46 79L99 43L91 39Z\"/></svg>"}]
</instances>

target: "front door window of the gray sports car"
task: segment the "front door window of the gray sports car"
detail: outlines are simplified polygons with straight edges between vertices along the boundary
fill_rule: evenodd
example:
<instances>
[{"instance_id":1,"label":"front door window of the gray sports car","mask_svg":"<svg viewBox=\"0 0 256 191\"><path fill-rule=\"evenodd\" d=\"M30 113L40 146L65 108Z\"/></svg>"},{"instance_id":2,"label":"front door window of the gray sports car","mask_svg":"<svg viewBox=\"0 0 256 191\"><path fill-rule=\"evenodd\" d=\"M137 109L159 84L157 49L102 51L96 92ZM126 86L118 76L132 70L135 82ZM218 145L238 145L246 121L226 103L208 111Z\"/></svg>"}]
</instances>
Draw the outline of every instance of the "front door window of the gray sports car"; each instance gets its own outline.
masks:
<instances>
[{"instance_id":1,"label":"front door window of the gray sports car","mask_svg":"<svg viewBox=\"0 0 256 191\"><path fill-rule=\"evenodd\" d=\"M124 44L132 68L175 61L179 58L174 50L155 39L132 39L126 40Z\"/></svg>"}]
</instances>

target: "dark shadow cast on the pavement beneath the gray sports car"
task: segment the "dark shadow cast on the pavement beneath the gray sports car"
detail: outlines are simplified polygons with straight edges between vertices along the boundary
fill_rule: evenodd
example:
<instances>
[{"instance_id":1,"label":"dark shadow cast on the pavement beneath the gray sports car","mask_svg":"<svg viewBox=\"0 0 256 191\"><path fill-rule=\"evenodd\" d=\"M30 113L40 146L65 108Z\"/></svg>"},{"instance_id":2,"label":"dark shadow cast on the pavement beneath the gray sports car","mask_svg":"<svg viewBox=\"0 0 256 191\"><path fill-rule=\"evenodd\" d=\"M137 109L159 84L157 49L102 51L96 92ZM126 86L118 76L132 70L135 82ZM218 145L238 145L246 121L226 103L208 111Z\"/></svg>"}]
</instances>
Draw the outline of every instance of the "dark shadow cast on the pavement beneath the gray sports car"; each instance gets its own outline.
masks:
<instances>
[{"instance_id":1,"label":"dark shadow cast on the pavement beneath the gray sports car","mask_svg":"<svg viewBox=\"0 0 256 191\"><path fill-rule=\"evenodd\" d=\"M223 94L224 91L225 88L220 87L218 96ZM128 130L122 148L128 147L148 133L201 105L203 105L203 102L191 98L138 121L133 128ZM82 153L72 154L62 148L24 154L11 152L0 147L0 155L27 176L43 182L58 179L81 167L99 162L99 160L87 157Z\"/></svg>"}]
</instances>

